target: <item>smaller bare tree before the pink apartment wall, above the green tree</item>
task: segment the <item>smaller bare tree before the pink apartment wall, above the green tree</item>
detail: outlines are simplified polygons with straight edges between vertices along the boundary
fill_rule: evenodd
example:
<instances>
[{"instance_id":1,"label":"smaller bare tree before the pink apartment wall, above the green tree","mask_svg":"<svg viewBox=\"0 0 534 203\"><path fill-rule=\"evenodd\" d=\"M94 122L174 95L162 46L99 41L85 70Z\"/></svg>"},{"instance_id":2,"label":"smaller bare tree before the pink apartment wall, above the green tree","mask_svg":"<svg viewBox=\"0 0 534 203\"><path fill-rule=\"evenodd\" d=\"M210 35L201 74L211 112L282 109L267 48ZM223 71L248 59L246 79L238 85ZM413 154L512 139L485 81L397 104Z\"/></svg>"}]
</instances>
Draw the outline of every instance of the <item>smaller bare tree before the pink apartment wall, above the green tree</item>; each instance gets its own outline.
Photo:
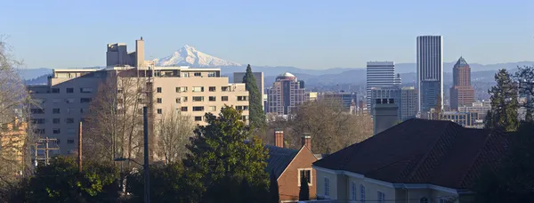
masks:
<instances>
[{"instance_id":1,"label":"smaller bare tree before the pink apartment wall, above the green tree","mask_svg":"<svg viewBox=\"0 0 534 203\"><path fill-rule=\"evenodd\" d=\"M195 125L189 115L180 110L167 110L156 123L158 156L165 158L166 163L181 161L185 158L190 136L193 135Z\"/></svg>"}]
</instances>

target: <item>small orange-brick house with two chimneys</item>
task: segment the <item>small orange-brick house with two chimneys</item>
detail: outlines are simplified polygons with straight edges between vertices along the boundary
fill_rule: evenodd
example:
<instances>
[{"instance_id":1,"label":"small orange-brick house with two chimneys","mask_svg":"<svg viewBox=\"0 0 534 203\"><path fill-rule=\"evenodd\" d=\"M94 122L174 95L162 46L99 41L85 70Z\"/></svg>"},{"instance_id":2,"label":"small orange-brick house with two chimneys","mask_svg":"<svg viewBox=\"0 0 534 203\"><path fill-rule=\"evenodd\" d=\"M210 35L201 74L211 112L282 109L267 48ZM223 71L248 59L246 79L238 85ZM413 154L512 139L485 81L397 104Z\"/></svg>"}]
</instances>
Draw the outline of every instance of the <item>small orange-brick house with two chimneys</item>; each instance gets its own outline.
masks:
<instances>
[{"instance_id":1,"label":"small orange-brick house with two chimneys","mask_svg":"<svg viewBox=\"0 0 534 203\"><path fill-rule=\"evenodd\" d=\"M276 175L281 202L296 202L300 191L300 181L306 177L310 186L310 199L315 199L316 171L312 163L317 158L312 153L312 137L303 135L300 150L284 148L284 132L274 132L275 145L265 145L269 149L267 172Z\"/></svg>"}]
</instances>

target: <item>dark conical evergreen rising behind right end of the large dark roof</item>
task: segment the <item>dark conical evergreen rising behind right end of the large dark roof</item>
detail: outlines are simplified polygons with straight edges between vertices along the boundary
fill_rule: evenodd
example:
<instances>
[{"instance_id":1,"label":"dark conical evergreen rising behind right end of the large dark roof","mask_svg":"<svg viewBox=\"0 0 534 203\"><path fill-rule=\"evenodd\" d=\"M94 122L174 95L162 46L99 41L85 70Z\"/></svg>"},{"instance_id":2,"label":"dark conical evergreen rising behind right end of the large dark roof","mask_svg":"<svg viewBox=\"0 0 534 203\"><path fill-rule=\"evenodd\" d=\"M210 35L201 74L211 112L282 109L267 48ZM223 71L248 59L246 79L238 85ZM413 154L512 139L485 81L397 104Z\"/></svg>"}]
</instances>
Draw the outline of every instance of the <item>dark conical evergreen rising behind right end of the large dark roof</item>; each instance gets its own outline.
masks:
<instances>
[{"instance_id":1,"label":"dark conical evergreen rising behind right end of the large dark roof","mask_svg":"<svg viewBox=\"0 0 534 203\"><path fill-rule=\"evenodd\" d=\"M506 69L499 69L495 80L497 85L488 90L491 95L491 110L485 118L484 127L506 132L515 131L519 125L517 87Z\"/></svg>"}]
</instances>

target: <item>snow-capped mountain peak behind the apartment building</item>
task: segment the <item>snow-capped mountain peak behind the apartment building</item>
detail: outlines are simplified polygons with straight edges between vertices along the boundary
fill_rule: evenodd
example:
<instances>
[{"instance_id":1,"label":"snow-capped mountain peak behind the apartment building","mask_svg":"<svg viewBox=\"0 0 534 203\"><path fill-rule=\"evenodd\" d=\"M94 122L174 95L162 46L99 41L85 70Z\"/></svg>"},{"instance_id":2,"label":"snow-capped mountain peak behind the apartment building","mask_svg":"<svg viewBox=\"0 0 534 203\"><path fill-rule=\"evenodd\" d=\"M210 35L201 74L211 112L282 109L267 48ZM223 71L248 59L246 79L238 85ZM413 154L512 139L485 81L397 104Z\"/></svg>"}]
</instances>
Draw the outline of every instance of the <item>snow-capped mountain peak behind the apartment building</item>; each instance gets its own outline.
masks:
<instances>
[{"instance_id":1,"label":"snow-capped mountain peak behind the apartment building","mask_svg":"<svg viewBox=\"0 0 534 203\"><path fill-rule=\"evenodd\" d=\"M173 54L155 60L158 66L191 66L191 67L224 67L224 66L241 66L233 61L211 56L199 52L195 47L184 45Z\"/></svg>"}]
</instances>

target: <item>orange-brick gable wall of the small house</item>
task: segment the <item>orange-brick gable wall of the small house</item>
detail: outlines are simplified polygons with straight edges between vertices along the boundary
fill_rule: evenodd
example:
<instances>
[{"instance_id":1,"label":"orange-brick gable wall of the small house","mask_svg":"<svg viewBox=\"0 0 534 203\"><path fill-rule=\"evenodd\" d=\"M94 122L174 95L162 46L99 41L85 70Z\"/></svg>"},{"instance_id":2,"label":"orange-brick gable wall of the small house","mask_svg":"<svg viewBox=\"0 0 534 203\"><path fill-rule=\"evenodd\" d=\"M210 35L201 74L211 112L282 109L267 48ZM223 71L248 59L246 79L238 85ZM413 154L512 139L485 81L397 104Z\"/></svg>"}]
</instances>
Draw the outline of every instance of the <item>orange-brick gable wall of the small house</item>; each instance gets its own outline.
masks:
<instances>
[{"instance_id":1,"label":"orange-brick gable wall of the small house","mask_svg":"<svg viewBox=\"0 0 534 203\"><path fill-rule=\"evenodd\" d=\"M312 169L312 163L317 158L313 156L312 151L307 148L301 149L293 161L287 166L286 170L279 176L279 194L280 200L298 200L300 191L299 169ZM312 169L312 184L310 186L310 199L316 199L317 191L317 172Z\"/></svg>"}]
</instances>

